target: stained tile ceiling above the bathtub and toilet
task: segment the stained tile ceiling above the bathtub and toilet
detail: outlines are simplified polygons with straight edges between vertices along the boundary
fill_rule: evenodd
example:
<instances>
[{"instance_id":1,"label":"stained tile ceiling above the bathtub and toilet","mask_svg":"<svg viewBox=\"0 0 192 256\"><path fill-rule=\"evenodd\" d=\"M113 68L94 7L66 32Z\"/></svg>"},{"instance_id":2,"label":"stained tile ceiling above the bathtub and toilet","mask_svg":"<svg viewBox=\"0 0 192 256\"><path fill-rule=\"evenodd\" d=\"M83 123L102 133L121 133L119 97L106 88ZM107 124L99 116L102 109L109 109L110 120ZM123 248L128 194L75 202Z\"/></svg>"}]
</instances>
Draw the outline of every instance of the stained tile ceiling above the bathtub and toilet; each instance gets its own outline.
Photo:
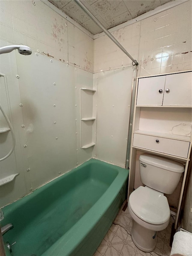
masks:
<instances>
[{"instance_id":1,"label":"stained tile ceiling above the bathtub and toilet","mask_svg":"<svg viewBox=\"0 0 192 256\"><path fill-rule=\"evenodd\" d=\"M169 1L171 0L82 0L83 4L106 29L136 18ZM88 29L93 35L102 32L75 1L49 0L49 2Z\"/></svg>"}]
</instances>

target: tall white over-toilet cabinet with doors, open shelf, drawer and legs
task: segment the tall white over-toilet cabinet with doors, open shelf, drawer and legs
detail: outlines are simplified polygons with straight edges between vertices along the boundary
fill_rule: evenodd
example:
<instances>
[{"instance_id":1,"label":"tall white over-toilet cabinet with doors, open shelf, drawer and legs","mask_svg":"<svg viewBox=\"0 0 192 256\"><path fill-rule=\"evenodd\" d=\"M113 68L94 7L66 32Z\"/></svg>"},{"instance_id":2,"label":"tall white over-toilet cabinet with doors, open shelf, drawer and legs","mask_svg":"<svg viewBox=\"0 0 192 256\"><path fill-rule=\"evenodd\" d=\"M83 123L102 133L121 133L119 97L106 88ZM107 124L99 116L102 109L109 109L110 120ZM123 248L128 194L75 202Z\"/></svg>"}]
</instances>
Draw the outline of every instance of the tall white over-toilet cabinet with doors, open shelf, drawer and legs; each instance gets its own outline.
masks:
<instances>
[{"instance_id":1,"label":"tall white over-toilet cabinet with doors, open shelf, drawer and legs","mask_svg":"<svg viewBox=\"0 0 192 256\"><path fill-rule=\"evenodd\" d=\"M191 151L192 72L139 77L132 128L128 196L134 189L137 151L184 164L177 210L177 226Z\"/></svg>"}]
</instances>

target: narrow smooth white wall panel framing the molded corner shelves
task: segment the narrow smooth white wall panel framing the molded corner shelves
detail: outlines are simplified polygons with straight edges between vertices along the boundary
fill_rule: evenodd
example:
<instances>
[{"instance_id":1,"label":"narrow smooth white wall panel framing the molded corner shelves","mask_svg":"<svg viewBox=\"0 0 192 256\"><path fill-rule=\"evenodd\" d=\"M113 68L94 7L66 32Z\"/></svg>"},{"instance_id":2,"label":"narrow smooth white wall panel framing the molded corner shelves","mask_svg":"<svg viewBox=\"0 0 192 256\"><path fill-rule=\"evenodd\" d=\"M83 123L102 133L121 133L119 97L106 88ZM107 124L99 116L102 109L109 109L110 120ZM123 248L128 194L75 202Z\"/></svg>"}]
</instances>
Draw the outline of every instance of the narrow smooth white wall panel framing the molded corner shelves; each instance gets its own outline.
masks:
<instances>
[{"instance_id":1,"label":"narrow smooth white wall panel framing the molded corner shelves","mask_svg":"<svg viewBox=\"0 0 192 256\"><path fill-rule=\"evenodd\" d=\"M88 149L81 149L81 121L80 120L80 88L89 88L89 89L93 89L93 74L88 72L88 71L84 71L81 70L79 68L75 68L74 69L74 77L75 77L75 87L74 87L74 94L75 94L75 105L77 105L77 107L75 107L75 127L76 127L76 155L77 155L77 162L76 164L82 164L83 162L87 161L87 159L92 157L92 151L93 148L88 148ZM91 113L92 114L92 113ZM88 121L90 122L90 121ZM93 121L91 121L93 122ZM96 120L93 123L94 125L96 125ZM86 136L86 134L85 134ZM92 134L91 134L92 136Z\"/></svg>"}]
</instances>

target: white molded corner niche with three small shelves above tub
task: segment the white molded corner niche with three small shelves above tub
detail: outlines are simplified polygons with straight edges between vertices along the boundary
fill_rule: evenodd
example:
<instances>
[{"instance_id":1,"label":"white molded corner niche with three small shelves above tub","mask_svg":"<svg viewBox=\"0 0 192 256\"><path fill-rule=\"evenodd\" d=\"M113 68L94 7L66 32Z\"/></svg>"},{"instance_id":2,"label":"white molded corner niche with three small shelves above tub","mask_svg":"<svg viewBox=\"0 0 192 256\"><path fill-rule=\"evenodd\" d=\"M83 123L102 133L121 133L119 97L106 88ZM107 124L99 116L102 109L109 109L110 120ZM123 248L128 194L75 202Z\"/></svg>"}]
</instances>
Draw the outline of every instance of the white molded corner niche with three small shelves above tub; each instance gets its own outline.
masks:
<instances>
[{"instance_id":1,"label":"white molded corner niche with three small shelves above tub","mask_svg":"<svg viewBox=\"0 0 192 256\"><path fill-rule=\"evenodd\" d=\"M93 113L93 97L95 92L95 89L80 88L81 149L87 149L95 145L95 141L93 141L93 125L96 120Z\"/></svg>"}]
</instances>

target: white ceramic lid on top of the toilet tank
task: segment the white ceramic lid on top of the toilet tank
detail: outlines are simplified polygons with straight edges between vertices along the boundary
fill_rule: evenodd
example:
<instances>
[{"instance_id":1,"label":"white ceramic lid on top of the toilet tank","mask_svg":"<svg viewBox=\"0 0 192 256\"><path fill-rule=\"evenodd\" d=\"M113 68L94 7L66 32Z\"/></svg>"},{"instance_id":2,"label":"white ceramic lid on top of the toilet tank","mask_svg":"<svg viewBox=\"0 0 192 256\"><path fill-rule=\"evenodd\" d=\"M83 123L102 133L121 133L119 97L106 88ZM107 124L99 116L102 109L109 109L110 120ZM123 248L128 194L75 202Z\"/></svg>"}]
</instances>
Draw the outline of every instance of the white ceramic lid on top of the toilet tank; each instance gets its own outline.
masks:
<instances>
[{"instance_id":1,"label":"white ceramic lid on top of the toilet tank","mask_svg":"<svg viewBox=\"0 0 192 256\"><path fill-rule=\"evenodd\" d=\"M149 154L142 154L140 155L139 160L141 162L144 162L145 164L150 164L152 166L156 166L172 172L176 172L176 173L184 172L183 164L164 158L164 157L149 155Z\"/></svg>"}]
</instances>

